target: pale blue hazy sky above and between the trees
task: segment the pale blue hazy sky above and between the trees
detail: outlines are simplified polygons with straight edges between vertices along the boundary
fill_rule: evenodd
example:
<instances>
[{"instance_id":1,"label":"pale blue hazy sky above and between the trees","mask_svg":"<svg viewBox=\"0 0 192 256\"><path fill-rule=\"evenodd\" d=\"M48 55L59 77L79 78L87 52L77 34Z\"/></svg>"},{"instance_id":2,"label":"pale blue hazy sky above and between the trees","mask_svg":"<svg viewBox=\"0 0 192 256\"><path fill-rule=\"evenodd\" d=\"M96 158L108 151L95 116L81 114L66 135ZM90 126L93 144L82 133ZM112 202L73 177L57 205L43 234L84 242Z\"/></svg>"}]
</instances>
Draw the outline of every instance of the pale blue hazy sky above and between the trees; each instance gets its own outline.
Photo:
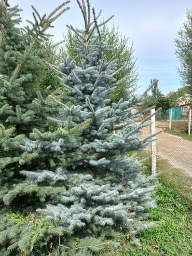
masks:
<instances>
[{"instance_id":1,"label":"pale blue hazy sky above and between the trees","mask_svg":"<svg viewBox=\"0 0 192 256\"><path fill-rule=\"evenodd\" d=\"M32 20L31 5L41 15L49 14L62 0L9 0L23 9L22 26L25 20ZM114 22L122 34L129 37L128 46L133 42L134 57L139 71L138 92L143 92L150 79L159 79L159 89L163 94L175 91L181 86L176 67L174 38L186 21L186 9L192 8L192 0L90 0L96 11L102 9L102 18L115 15ZM69 4L70 10L54 22L53 41L59 42L66 34L66 24L81 28L83 18L75 0Z\"/></svg>"}]
</instances>

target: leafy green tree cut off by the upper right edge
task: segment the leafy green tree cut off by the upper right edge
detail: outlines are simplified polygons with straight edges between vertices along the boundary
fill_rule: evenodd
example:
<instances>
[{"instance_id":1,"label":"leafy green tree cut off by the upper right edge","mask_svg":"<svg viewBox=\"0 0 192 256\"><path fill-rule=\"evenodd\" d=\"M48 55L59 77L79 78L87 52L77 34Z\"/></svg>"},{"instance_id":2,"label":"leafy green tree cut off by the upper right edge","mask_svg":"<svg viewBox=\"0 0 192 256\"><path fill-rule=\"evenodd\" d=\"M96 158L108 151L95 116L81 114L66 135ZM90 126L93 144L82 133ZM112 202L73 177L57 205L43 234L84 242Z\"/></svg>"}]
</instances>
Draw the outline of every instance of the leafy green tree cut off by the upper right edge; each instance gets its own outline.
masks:
<instances>
[{"instance_id":1,"label":"leafy green tree cut off by the upper right edge","mask_svg":"<svg viewBox=\"0 0 192 256\"><path fill-rule=\"evenodd\" d=\"M192 9L186 12L187 21L184 22L183 28L178 32L175 39L175 54L180 60L179 74L184 86L188 85L192 88ZM191 90L191 89L190 89Z\"/></svg>"}]
</instances>

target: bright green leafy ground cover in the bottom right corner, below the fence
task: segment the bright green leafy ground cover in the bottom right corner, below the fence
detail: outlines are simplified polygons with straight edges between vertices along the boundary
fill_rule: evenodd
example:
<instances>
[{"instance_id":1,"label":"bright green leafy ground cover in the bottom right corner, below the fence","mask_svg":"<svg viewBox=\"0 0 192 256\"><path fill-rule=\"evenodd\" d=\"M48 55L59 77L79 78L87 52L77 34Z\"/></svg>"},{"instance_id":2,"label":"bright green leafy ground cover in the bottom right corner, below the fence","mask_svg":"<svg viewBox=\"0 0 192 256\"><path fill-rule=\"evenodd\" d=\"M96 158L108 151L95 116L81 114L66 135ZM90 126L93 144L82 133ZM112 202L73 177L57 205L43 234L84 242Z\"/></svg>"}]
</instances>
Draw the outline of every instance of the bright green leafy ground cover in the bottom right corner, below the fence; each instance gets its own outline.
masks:
<instances>
[{"instance_id":1,"label":"bright green leafy ground cover in the bottom right corner, below the fence","mask_svg":"<svg viewBox=\"0 0 192 256\"><path fill-rule=\"evenodd\" d=\"M141 246L130 245L126 239L118 249L108 248L100 255L125 256L190 256L191 214L188 204L166 185L156 192L157 208L152 210L149 220L158 221L155 228L140 234Z\"/></svg>"}]
</instances>

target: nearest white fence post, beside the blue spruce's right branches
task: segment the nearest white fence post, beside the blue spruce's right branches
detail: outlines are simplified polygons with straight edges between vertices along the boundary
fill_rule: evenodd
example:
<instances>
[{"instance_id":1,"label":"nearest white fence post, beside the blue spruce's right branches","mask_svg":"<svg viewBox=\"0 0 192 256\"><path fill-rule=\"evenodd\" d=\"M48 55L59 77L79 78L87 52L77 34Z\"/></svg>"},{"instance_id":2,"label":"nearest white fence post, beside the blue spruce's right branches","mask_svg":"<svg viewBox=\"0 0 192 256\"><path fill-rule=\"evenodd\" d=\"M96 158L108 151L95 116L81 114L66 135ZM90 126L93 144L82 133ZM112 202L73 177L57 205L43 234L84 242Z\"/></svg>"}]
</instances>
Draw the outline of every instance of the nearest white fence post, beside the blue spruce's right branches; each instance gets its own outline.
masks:
<instances>
[{"instance_id":1,"label":"nearest white fence post, beside the blue spruce's right branches","mask_svg":"<svg viewBox=\"0 0 192 256\"><path fill-rule=\"evenodd\" d=\"M155 109L150 110L150 114L154 114ZM152 123L150 124L150 134L155 133L155 115L153 115L151 118ZM151 157L152 157L152 174L157 173L157 167L156 167L156 141L152 141L151 144Z\"/></svg>"}]
</instances>

